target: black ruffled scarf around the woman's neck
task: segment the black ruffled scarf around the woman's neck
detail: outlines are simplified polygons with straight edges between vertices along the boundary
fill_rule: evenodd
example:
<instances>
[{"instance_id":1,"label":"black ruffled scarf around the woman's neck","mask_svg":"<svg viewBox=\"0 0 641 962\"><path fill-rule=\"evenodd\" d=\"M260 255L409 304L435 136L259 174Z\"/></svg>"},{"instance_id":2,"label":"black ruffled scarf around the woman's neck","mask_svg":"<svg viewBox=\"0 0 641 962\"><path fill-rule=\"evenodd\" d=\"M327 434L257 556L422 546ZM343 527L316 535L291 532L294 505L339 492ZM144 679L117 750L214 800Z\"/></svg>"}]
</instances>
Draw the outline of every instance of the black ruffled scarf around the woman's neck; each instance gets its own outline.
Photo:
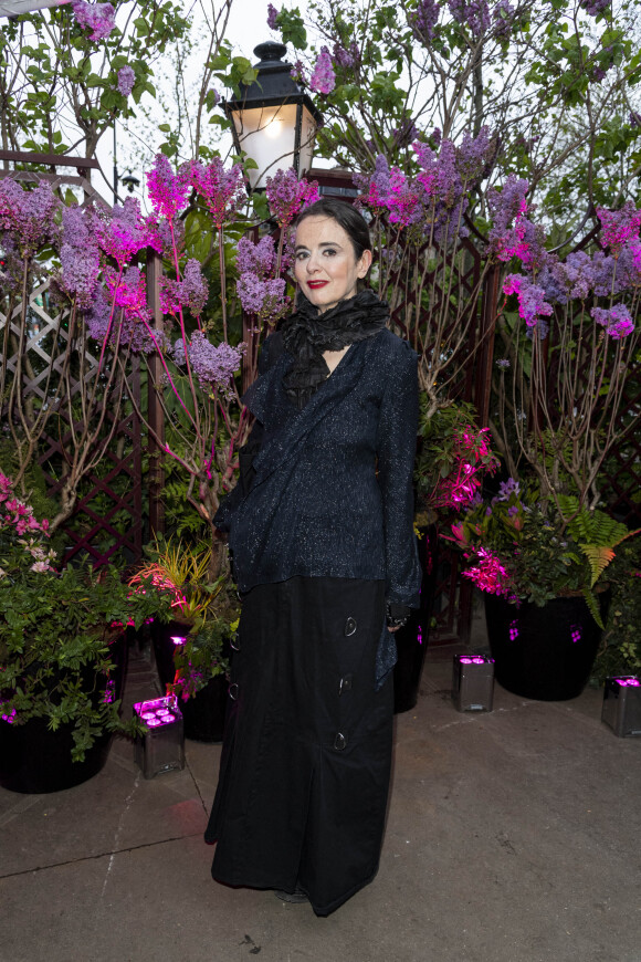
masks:
<instances>
[{"instance_id":1,"label":"black ruffled scarf around the woman's neck","mask_svg":"<svg viewBox=\"0 0 641 962\"><path fill-rule=\"evenodd\" d=\"M304 408L309 398L329 377L324 351L343 351L374 337L389 317L389 306L374 291L360 291L355 297L340 301L330 311L318 313L300 293L296 313L281 327L283 346L294 358L292 368L283 378L285 394L296 407Z\"/></svg>"}]
</instances>

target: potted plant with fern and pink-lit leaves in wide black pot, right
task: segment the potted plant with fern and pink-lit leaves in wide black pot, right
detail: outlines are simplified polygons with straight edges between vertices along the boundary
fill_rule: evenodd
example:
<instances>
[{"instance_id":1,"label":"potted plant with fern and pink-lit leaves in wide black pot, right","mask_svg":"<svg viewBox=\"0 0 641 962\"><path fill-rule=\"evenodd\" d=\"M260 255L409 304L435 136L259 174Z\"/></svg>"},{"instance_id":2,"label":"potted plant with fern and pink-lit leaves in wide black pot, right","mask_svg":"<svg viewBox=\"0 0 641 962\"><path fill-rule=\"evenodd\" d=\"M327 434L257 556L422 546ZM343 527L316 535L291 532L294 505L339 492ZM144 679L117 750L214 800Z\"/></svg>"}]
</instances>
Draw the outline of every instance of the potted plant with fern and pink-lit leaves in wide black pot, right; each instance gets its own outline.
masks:
<instances>
[{"instance_id":1,"label":"potted plant with fern and pink-lit leaves in wide black pot, right","mask_svg":"<svg viewBox=\"0 0 641 962\"><path fill-rule=\"evenodd\" d=\"M469 562L463 576L485 593L497 680L543 700L575 698L586 684L607 609L605 573L631 534L576 495L558 503L511 478L452 525Z\"/></svg>"}]
</instances>

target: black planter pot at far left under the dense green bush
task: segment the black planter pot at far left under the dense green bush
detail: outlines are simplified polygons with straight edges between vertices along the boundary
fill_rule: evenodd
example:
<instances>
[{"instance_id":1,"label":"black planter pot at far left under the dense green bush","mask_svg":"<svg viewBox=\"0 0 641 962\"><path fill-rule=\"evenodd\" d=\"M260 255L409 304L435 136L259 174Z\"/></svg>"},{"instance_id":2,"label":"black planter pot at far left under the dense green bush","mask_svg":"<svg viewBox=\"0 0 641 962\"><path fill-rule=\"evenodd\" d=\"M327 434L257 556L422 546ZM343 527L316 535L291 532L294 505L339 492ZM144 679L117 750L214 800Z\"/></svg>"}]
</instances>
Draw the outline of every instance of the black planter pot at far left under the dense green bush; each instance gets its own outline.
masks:
<instances>
[{"instance_id":1,"label":"black planter pot at far left under the dense green bush","mask_svg":"<svg viewBox=\"0 0 641 962\"><path fill-rule=\"evenodd\" d=\"M123 693L127 645L125 636L112 642L114 652L114 699ZM85 672L93 688L95 676ZM49 719L34 718L24 724L0 721L0 785L10 792L45 795L73 788L93 778L104 767L113 735L105 732L86 750L83 762L73 762L73 724L62 724L52 732Z\"/></svg>"}]
</instances>

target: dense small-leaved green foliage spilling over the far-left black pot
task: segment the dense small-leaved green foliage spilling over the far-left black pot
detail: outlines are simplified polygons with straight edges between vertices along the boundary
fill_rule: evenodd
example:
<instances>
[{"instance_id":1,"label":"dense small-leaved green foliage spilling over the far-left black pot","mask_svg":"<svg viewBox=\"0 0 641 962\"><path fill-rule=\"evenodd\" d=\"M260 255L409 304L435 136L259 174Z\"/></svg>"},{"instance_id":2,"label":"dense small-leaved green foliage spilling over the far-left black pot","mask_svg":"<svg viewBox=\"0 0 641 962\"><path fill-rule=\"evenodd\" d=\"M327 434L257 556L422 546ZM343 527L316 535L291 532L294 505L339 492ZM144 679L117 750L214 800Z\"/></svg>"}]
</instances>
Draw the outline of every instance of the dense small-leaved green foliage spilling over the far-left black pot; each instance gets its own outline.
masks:
<instances>
[{"instance_id":1,"label":"dense small-leaved green foliage spilling over the far-left black pot","mask_svg":"<svg viewBox=\"0 0 641 962\"><path fill-rule=\"evenodd\" d=\"M73 724L72 757L82 761L102 732L137 731L109 700L116 638L140 627L157 606L130 596L118 573L67 567L32 572L22 546L4 542L0 565L0 701L13 724L46 718ZM116 627L117 626L117 627Z\"/></svg>"}]
</instances>

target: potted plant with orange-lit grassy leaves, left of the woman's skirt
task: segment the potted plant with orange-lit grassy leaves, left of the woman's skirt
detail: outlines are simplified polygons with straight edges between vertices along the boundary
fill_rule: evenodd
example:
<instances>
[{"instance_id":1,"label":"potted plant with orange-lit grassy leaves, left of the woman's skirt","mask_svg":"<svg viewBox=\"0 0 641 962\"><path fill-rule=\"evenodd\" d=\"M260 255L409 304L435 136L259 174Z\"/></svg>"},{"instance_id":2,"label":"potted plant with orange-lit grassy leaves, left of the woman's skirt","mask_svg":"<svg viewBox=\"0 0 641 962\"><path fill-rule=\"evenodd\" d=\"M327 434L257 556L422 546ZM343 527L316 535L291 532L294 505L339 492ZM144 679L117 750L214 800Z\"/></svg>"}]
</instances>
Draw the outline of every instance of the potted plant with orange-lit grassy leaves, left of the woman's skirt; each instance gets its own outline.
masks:
<instances>
[{"instance_id":1,"label":"potted plant with orange-lit grassy leaves, left of the woman's skirt","mask_svg":"<svg viewBox=\"0 0 641 962\"><path fill-rule=\"evenodd\" d=\"M238 595L225 573L211 581L211 550L157 537L130 585L169 605L171 620L154 624L154 650L161 683L182 699L185 734L222 741L227 669L240 616ZM144 587L141 587L144 586Z\"/></svg>"}]
</instances>

